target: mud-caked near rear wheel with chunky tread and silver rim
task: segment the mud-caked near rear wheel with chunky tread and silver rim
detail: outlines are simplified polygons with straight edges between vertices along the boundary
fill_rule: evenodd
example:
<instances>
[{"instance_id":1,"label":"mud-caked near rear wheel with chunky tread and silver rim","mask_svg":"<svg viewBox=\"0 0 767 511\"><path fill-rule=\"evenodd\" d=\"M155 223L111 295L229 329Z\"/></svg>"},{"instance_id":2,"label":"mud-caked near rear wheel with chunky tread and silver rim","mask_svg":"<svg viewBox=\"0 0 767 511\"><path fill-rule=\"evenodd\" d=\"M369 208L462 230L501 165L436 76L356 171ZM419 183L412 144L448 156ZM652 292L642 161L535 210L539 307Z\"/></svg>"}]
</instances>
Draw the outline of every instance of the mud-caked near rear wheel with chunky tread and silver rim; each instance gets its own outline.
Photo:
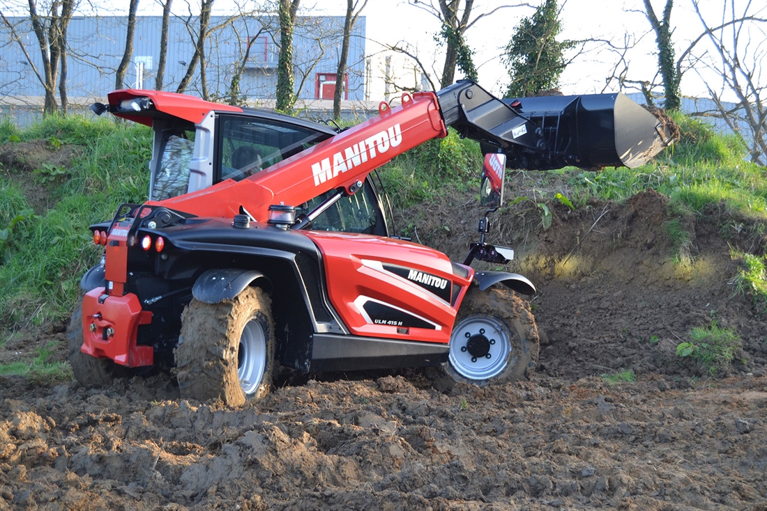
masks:
<instances>
[{"instance_id":1,"label":"mud-caked near rear wheel with chunky tread and silver rim","mask_svg":"<svg viewBox=\"0 0 767 511\"><path fill-rule=\"evenodd\" d=\"M221 303L193 299L181 316L176 366L183 398L240 406L266 395L275 370L269 296L246 287Z\"/></svg>"}]
</instances>

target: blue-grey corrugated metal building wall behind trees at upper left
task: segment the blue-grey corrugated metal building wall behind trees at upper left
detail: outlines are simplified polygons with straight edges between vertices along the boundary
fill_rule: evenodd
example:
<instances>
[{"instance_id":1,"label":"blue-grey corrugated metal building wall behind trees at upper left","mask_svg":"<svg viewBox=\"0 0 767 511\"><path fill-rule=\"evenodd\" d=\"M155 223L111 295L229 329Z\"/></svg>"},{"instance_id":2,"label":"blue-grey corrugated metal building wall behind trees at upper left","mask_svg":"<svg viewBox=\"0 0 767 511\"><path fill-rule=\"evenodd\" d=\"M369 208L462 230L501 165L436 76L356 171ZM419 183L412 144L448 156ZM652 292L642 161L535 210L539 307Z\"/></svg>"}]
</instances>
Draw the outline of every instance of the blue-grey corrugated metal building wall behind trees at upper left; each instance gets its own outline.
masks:
<instances>
[{"instance_id":1,"label":"blue-grey corrugated metal building wall behind trees at upper left","mask_svg":"<svg viewBox=\"0 0 767 511\"><path fill-rule=\"evenodd\" d=\"M16 26L35 66L42 75L41 52L28 21L9 18ZM133 58L127 70L124 87L155 87L160 57L160 16L137 18L133 40ZM126 17L73 18L67 29L69 52L67 87L71 100L106 97L115 88L115 70L125 50ZM278 30L268 15L262 18L227 18L213 16L214 30L206 41L206 81L209 97L225 97L235 73L242 62L245 42L259 37L240 81L240 93L249 99L272 99L277 84ZM264 29L263 26L267 28ZM343 17L302 17L295 25L294 64L295 90L301 99L315 97L318 74L335 73L341 54ZM349 67L348 99L364 99L365 18L360 16L351 38L347 65ZM163 90L176 91L194 54L193 34L199 30L196 17L172 16L168 36ZM275 36L275 34L277 34ZM196 37L196 35L194 36ZM0 25L0 96L42 97L44 89L25 55L5 25ZM143 64L143 80L140 67ZM196 68L187 93L202 95L200 67Z\"/></svg>"}]
</instances>

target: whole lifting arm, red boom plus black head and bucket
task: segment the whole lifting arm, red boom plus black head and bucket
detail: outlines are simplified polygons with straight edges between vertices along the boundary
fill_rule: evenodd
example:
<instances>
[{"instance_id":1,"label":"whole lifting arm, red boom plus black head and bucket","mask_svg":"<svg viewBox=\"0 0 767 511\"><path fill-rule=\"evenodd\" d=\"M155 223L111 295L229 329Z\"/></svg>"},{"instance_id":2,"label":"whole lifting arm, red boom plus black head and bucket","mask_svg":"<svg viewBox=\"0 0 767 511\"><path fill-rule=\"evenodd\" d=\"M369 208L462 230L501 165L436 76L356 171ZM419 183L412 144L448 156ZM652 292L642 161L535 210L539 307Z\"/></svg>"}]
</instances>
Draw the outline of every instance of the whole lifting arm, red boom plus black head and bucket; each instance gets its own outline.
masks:
<instances>
[{"instance_id":1,"label":"whole lifting arm, red boom plus black head and bucket","mask_svg":"<svg viewBox=\"0 0 767 511\"><path fill-rule=\"evenodd\" d=\"M594 96L612 98L614 103L619 97L617 94ZM453 126L462 136L479 140L493 152L505 152L509 156L507 165L525 169L558 169L565 165L587 168L594 165L636 166L667 145L668 140L663 139L657 118L633 103L638 110L632 110L632 115L649 116L650 121L643 118L642 122L644 131L649 129L650 135L633 136L632 133L633 138L623 136L628 149L621 146L624 154L619 156L617 123L607 119L614 109L608 107L594 114L583 106L582 98L585 97L530 98L555 99L557 108L548 108L549 101L542 109L525 111L522 106L528 100L506 103L474 82L460 80L437 93L406 94L402 105L394 108L381 103L379 116L241 182L226 181L153 204L195 211L199 216L229 218L242 206L255 220L266 221L270 205L301 205L338 188L353 194L365 177L380 165L427 140L446 136L446 126ZM565 106L561 107L563 102ZM579 115L588 113L592 114L594 126L575 123ZM607 137L604 141L601 139L604 137L589 137L597 129L604 130L605 125L611 133L611 123L616 130L614 139ZM637 142L630 141L633 139ZM653 142L649 149L642 146L648 139ZM631 146L632 143L636 147ZM598 144L607 149L597 147ZM634 154L636 152L640 152L639 156Z\"/></svg>"}]
</instances>

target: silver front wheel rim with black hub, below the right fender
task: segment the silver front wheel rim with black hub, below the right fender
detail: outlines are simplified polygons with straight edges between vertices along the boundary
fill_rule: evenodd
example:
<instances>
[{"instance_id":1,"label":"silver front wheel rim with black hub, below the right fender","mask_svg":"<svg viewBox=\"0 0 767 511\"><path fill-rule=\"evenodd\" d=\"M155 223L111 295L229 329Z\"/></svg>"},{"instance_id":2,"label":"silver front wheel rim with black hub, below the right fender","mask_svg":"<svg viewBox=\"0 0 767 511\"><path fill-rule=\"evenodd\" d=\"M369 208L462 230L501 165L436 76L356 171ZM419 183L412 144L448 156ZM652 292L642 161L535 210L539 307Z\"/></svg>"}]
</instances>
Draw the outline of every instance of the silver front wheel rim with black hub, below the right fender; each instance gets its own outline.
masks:
<instances>
[{"instance_id":1,"label":"silver front wheel rim with black hub, below the right fender","mask_svg":"<svg viewBox=\"0 0 767 511\"><path fill-rule=\"evenodd\" d=\"M508 327L498 319L466 318L450 336L450 364L459 375L471 380L497 376L509 363L510 335Z\"/></svg>"}]
</instances>

